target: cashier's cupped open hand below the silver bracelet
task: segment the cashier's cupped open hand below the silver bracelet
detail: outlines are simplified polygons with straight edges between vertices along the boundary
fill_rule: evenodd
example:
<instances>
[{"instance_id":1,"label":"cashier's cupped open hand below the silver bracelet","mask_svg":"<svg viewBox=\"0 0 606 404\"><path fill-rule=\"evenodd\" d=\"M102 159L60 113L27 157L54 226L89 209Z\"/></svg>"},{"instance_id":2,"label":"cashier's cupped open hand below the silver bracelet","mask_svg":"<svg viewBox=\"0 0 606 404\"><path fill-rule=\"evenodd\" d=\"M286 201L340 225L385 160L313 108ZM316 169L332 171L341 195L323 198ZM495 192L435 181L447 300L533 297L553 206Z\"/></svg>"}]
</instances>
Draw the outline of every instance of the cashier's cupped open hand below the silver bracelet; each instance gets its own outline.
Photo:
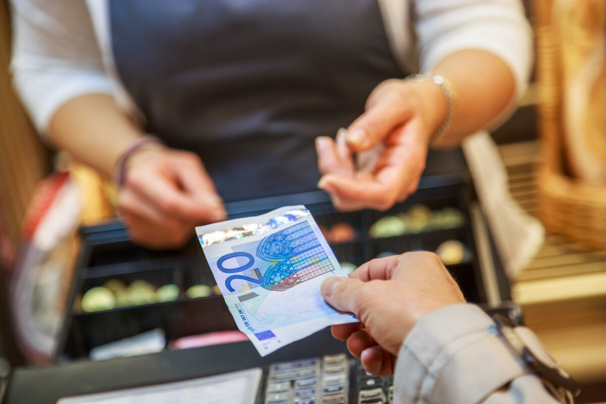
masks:
<instances>
[{"instance_id":1,"label":"cashier's cupped open hand below the silver bracelet","mask_svg":"<svg viewBox=\"0 0 606 404\"><path fill-rule=\"evenodd\" d=\"M316 139L318 187L342 211L387 210L402 202L419 185L429 141L446 112L444 93L433 82L382 82L347 130L334 141Z\"/></svg>"}]
</instances>

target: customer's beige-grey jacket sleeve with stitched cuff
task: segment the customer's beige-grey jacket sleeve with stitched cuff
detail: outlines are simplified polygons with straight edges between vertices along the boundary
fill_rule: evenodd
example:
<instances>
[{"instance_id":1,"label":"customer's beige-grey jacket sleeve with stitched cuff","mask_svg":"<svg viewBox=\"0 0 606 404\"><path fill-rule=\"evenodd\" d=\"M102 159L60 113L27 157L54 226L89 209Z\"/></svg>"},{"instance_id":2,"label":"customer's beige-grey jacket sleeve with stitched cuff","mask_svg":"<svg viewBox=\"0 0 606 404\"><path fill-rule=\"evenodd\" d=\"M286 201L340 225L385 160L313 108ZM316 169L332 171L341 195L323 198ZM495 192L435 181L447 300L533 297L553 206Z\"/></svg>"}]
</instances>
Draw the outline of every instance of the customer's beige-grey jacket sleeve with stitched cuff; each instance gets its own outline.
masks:
<instances>
[{"instance_id":1,"label":"customer's beige-grey jacket sleeve with stitched cuff","mask_svg":"<svg viewBox=\"0 0 606 404\"><path fill-rule=\"evenodd\" d=\"M524 329L524 334L531 333ZM530 339L534 350L538 340ZM558 402L511 353L494 322L478 306L454 305L430 313L402 344L396 365L395 403Z\"/></svg>"}]
</instances>

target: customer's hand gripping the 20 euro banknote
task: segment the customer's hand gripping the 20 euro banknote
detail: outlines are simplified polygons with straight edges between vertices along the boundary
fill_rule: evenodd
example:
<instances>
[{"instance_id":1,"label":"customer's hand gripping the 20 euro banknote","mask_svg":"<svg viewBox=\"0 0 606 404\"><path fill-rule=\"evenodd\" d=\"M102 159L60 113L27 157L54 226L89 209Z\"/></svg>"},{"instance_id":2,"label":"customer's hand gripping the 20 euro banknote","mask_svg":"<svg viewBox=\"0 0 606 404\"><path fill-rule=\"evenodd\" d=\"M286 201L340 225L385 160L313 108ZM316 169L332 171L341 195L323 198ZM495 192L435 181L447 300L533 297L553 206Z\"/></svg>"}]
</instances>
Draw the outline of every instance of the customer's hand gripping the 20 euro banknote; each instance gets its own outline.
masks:
<instances>
[{"instance_id":1,"label":"customer's hand gripping the 20 euro banknote","mask_svg":"<svg viewBox=\"0 0 606 404\"><path fill-rule=\"evenodd\" d=\"M328 304L360 319L333 325L333 336L380 376L393 374L404 339L423 316L465 303L439 257L425 252L373 259L350 277L324 280L321 291Z\"/></svg>"}]
</instances>

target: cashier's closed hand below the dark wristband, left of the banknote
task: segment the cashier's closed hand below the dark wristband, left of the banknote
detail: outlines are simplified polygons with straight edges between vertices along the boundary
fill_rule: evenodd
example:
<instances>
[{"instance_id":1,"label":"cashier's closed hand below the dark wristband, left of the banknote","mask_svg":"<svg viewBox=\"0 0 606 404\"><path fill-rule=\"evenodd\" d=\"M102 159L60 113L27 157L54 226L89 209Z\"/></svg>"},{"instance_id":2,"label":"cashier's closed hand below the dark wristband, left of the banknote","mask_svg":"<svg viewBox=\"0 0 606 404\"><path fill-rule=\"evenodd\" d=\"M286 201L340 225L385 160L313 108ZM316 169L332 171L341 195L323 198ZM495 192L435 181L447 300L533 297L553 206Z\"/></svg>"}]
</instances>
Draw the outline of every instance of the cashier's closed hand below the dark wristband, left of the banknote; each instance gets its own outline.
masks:
<instances>
[{"instance_id":1,"label":"cashier's closed hand below the dark wristband, left of the banknote","mask_svg":"<svg viewBox=\"0 0 606 404\"><path fill-rule=\"evenodd\" d=\"M158 250L183 247L196 225L225 219L199 157L161 145L141 148L128 159L118 202L133 242Z\"/></svg>"}]
</instances>

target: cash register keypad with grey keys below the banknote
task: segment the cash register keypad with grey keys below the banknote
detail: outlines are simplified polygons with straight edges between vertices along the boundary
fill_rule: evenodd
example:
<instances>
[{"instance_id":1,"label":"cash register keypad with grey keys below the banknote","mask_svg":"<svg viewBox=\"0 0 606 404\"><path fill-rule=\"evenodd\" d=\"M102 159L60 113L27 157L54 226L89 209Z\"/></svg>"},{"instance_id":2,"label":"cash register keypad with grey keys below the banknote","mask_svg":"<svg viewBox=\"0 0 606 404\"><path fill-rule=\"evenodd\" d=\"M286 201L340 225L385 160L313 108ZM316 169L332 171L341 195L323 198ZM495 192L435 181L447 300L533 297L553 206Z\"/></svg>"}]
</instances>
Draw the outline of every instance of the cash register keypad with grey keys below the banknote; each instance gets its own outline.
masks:
<instances>
[{"instance_id":1,"label":"cash register keypad with grey keys below the banknote","mask_svg":"<svg viewBox=\"0 0 606 404\"><path fill-rule=\"evenodd\" d=\"M350 367L356 376L358 404L393 403L391 378L367 373L359 360L350 365L345 354L273 363L264 403L348 404Z\"/></svg>"}]
</instances>

